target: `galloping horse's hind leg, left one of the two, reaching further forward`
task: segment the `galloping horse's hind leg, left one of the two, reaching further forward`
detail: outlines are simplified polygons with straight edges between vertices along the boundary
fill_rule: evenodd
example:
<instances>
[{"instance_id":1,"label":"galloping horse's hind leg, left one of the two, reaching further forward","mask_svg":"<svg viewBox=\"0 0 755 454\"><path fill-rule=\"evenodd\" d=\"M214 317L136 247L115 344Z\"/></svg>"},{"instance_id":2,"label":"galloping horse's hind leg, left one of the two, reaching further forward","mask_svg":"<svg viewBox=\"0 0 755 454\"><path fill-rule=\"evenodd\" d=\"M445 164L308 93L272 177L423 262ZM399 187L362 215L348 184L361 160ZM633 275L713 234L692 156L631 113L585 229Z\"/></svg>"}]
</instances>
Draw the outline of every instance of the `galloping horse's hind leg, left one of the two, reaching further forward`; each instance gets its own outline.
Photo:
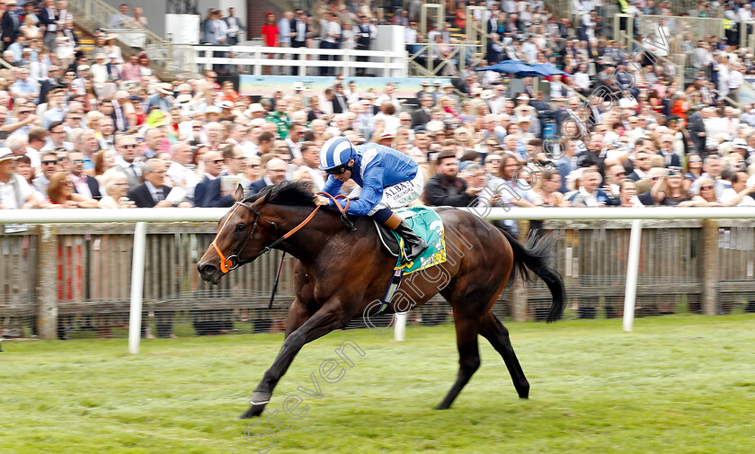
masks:
<instances>
[{"instance_id":1,"label":"galloping horse's hind leg, left one of the two, reaching further forward","mask_svg":"<svg viewBox=\"0 0 755 454\"><path fill-rule=\"evenodd\" d=\"M465 312L463 308L454 307L454 321L457 332L457 349L458 349L458 374L457 380L449 390L449 394L443 399L436 410L446 410L453 404L458 393L472 378L472 375L480 367L480 352L477 348L477 329L479 319L477 316L468 316L461 314Z\"/></svg>"}]
</instances>

